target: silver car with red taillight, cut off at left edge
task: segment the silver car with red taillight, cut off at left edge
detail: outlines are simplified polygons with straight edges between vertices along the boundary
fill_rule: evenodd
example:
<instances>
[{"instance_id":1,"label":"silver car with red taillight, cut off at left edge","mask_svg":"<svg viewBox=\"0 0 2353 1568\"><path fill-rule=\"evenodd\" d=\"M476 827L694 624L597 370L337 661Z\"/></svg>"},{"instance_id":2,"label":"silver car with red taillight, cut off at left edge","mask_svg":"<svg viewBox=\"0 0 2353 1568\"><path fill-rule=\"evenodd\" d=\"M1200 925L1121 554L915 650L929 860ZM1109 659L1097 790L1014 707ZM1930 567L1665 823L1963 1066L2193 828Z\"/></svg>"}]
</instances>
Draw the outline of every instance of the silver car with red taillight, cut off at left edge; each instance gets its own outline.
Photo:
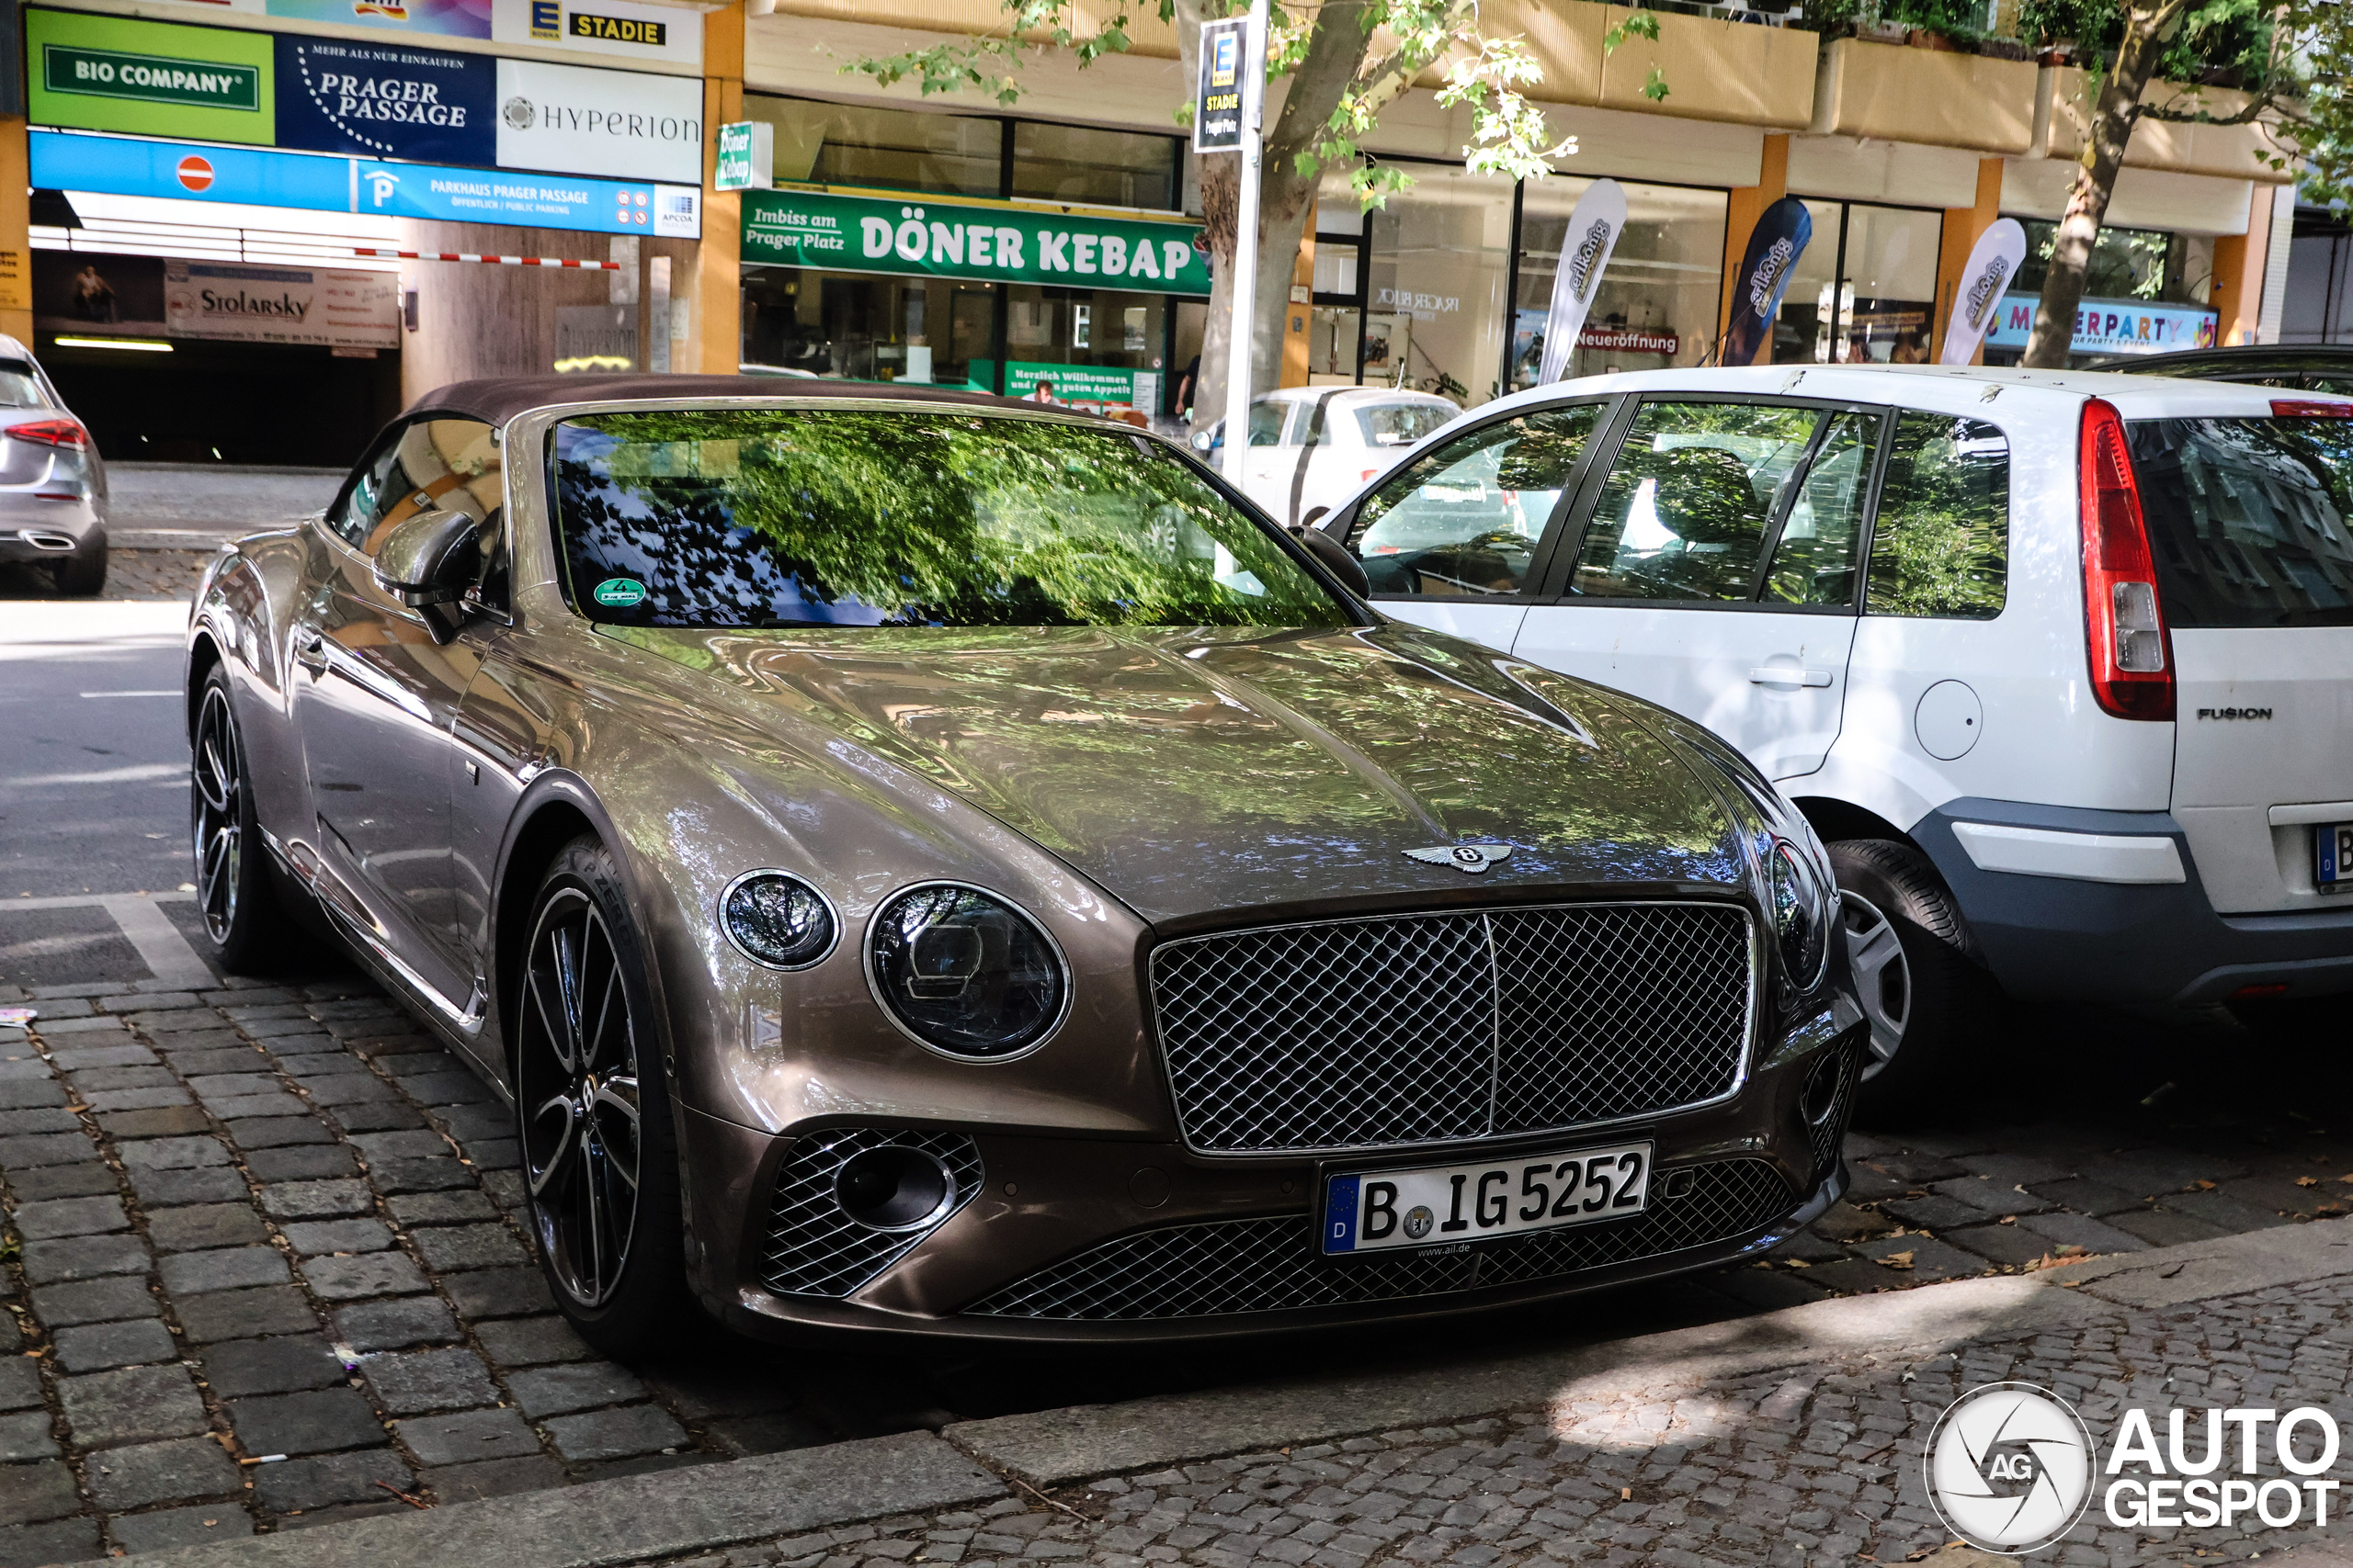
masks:
<instances>
[{"instance_id":1,"label":"silver car with red taillight, cut off at left edge","mask_svg":"<svg viewBox=\"0 0 2353 1568\"><path fill-rule=\"evenodd\" d=\"M33 350L0 336L0 562L49 569L56 590L106 588L106 463Z\"/></svg>"}]
</instances>

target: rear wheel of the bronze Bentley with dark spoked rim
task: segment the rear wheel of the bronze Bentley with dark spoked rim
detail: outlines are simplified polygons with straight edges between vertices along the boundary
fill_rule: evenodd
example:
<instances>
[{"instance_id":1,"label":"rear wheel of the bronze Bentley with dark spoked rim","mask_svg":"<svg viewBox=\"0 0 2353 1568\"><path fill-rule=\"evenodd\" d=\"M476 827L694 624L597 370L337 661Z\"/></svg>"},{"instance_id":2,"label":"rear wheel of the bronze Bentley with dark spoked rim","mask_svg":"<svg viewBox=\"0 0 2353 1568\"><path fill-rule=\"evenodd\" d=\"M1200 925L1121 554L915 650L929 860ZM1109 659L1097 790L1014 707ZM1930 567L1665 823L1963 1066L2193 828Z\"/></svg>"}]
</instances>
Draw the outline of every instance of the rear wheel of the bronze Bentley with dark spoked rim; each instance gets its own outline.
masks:
<instances>
[{"instance_id":1,"label":"rear wheel of the bronze Bentley with dark spoked rim","mask_svg":"<svg viewBox=\"0 0 2353 1568\"><path fill-rule=\"evenodd\" d=\"M221 665L198 689L188 837L195 851L195 903L221 969L240 976L271 973L287 954L306 950L271 884L245 771L245 733Z\"/></svg>"}]
</instances>

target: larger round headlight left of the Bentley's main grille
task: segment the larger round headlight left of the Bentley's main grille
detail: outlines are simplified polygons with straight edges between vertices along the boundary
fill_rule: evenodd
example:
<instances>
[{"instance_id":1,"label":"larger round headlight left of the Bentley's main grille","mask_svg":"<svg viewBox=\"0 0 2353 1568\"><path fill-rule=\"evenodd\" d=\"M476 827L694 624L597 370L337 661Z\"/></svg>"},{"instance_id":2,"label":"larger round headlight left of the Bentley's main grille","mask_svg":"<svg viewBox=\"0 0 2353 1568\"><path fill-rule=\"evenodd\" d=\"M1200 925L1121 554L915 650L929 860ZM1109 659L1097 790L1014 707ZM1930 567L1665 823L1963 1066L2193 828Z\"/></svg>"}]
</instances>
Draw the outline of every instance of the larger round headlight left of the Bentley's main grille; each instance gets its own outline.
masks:
<instances>
[{"instance_id":1,"label":"larger round headlight left of the Bentley's main grille","mask_svg":"<svg viewBox=\"0 0 2353 1568\"><path fill-rule=\"evenodd\" d=\"M1061 952L1028 914L946 882L875 910L866 978L901 1030L934 1051L979 1060L1035 1046L1071 997Z\"/></svg>"}]
</instances>

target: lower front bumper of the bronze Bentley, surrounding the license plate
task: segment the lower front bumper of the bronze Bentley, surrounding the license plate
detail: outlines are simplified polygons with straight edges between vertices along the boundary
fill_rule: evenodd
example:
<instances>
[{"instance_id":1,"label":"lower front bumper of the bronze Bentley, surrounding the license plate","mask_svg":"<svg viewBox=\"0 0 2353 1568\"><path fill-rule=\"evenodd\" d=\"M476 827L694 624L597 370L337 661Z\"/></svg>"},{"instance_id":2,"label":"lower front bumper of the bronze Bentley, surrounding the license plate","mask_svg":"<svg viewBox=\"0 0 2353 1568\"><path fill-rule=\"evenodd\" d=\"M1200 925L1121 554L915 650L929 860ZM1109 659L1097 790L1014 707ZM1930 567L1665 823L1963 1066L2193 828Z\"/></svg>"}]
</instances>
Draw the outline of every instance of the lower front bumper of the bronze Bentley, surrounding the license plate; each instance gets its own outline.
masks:
<instances>
[{"instance_id":1,"label":"lower front bumper of the bronze Bentley, surrounding the license plate","mask_svg":"<svg viewBox=\"0 0 2353 1568\"><path fill-rule=\"evenodd\" d=\"M845 1258L871 1239L812 1225L805 1201L805 1166L842 1124L793 1138L687 1112L689 1272L727 1326L786 1342L831 1333L1160 1342L1485 1312L1777 1246L1845 1190L1838 1145L1859 1065L1861 1030L1824 1030L1701 1112L1417 1150L1417 1164L1449 1164L1649 1138L1654 1197L1640 1218L1346 1262L1313 1253L1315 1159L922 1126L904 1131L939 1147L969 1143L974 1192L866 1274ZM1817 1067L1838 1074L1838 1091L1828 1117L1809 1121ZM1388 1161L1355 1161L1379 1164Z\"/></svg>"}]
</instances>

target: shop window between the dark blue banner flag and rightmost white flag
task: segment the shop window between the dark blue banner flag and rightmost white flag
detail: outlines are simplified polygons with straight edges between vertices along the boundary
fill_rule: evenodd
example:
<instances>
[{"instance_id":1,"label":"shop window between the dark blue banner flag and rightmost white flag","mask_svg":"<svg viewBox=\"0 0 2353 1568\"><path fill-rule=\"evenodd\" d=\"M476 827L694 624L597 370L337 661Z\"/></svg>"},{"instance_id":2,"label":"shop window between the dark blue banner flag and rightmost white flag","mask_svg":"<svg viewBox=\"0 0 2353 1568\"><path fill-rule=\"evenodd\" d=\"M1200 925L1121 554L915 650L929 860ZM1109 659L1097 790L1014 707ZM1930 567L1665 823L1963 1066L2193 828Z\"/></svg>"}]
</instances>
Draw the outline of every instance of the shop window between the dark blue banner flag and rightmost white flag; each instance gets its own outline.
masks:
<instances>
[{"instance_id":1,"label":"shop window between the dark blue banner flag and rightmost white flag","mask_svg":"<svg viewBox=\"0 0 2353 1568\"><path fill-rule=\"evenodd\" d=\"M1944 214L1864 202L1807 202L1805 209L1814 237L1774 317L1774 364L1934 360Z\"/></svg>"}]
</instances>

